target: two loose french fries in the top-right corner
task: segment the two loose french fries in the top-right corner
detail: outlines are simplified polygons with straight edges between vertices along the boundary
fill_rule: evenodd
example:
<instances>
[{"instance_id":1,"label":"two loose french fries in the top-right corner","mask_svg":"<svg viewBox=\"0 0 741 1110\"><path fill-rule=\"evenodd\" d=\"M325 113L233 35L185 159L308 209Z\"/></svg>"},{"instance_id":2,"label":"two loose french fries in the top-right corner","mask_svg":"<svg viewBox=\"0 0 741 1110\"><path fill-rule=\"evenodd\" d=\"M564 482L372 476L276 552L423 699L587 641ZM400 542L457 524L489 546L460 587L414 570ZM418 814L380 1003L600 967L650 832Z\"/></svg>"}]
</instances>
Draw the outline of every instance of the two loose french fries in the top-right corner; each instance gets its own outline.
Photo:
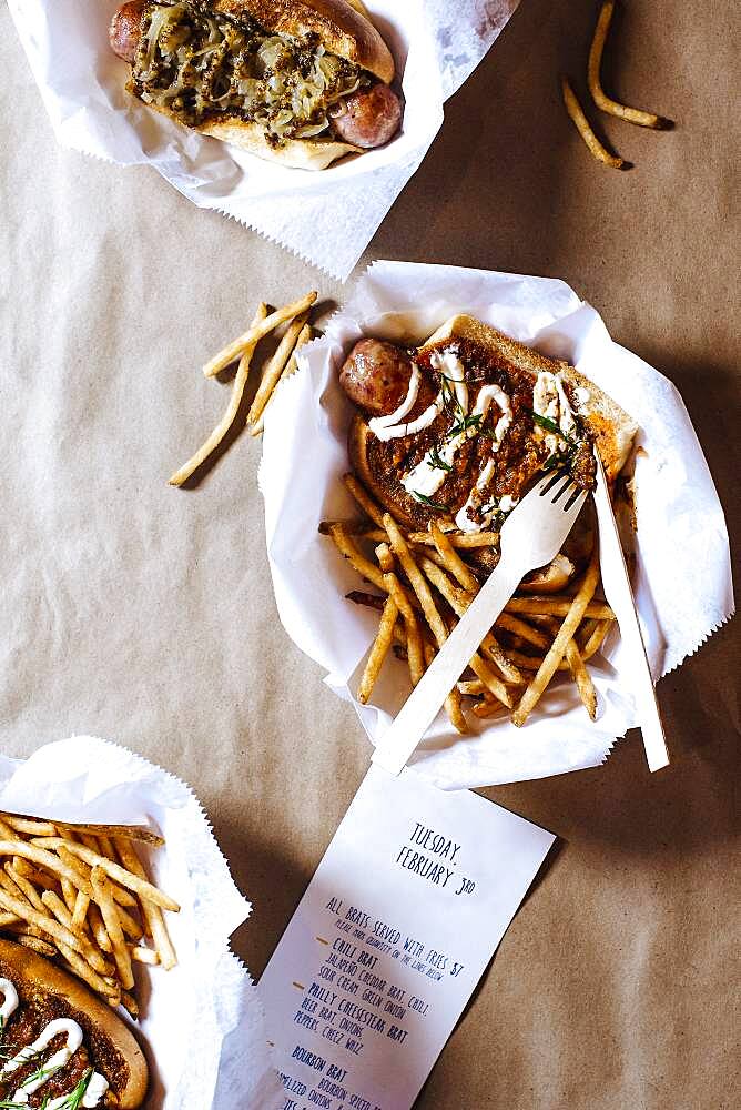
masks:
<instances>
[{"instance_id":1,"label":"two loose french fries in the top-right corner","mask_svg":"<svg viewBox=\"0 0 741 1110\"><path fill-rule=\"evenodd\" d=\"M653 131L666 131L672 127L670 120L667 120L661 115L657 115L654 112L644 112L640 108L630 108L628 104L621 104L618 100L613 100L611 97L608 97L602 88L600 78L602 54L605 52L605 43L607 42L607 36L610 30L613 14L615 0L605 0L597 19L595 36L589 49L589 62L587 64L587 83L589 85L591 99L593 100L596 107L599 108L600 111L606 112L608 115L615 115L617 119L625 120L627 123L635 123L639 128L651 128ZM611 154L595 134L595 131L592 130L589 120L579 103L577 94L573 91L573 87L567 77L561 77L561 95L571 121L597 161L603 162L605 165L612 167L613 170L628 169L630 163L626 162L626 160L620 158L618 154Z\"/></svg>"}]
</instances>

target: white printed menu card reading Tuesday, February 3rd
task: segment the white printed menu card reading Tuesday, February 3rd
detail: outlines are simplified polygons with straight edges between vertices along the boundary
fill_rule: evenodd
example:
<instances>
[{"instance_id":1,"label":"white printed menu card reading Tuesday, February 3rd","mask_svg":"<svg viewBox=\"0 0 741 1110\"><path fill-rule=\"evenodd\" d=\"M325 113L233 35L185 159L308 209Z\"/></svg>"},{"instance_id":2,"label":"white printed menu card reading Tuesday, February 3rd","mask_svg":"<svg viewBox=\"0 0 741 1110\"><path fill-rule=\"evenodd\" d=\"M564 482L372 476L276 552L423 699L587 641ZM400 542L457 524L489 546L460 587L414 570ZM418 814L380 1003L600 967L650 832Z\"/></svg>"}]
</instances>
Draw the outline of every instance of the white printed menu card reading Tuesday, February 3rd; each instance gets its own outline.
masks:
<instances>
[{"instance_id":1,"label":"white printed menu card reading Tuesday, February 3rd","mask_svg":"<svg viewBox=\"0 0 741 1110\"><path fill-rule=\"evenodd\" d=\"M260 981L274 1110L409 1110L554 839L372 767Z\"/></svg>"}]
</instances>

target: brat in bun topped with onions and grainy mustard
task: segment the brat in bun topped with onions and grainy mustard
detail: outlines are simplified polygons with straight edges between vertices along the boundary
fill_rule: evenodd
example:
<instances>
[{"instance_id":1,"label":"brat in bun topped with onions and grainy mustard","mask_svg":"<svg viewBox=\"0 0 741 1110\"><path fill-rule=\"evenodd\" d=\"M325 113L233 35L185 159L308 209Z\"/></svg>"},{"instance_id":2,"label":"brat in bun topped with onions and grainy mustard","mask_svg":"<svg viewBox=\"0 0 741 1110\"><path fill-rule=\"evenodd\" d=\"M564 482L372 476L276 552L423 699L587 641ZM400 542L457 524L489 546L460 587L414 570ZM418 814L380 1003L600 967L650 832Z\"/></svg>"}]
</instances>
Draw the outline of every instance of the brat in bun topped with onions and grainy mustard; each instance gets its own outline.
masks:
<instances>
[{"instance_id":1,"label":"brat in bun topped with onions and grainy mustard","mask_svg":"<svg viewBox=\"0 0 741 1110\"><path fill-rule=\"evenodd\" d=\"M390 51L346 0L130 0L109 38L132 95L284 165L325 169L402 121Z\"/></svg>"}]
</instances>

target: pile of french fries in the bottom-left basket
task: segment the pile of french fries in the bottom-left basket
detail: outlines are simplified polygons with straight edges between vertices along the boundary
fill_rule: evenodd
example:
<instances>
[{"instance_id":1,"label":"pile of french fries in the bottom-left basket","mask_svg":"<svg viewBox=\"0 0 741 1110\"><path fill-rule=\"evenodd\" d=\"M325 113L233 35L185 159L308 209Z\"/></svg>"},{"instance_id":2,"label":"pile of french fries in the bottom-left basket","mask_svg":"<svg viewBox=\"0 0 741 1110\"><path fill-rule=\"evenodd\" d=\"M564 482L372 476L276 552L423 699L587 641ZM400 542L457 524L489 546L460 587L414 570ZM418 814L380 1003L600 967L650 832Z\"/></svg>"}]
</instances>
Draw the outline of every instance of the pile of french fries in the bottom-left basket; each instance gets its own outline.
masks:
<instances>
[{"instance_id":1,"label":"pile of french fries in the bottom-left basket","mask_svg":"<svg viewBox=\"0 0 741 1110\"><path fill-rule=\"evenodd\" d=\"M0 934L57 959L134 1018L132 965L175 966L163 910L180 910L149 881L136 841L164 844L138 826L0 814Z\"/></svg>"}]
</instances>

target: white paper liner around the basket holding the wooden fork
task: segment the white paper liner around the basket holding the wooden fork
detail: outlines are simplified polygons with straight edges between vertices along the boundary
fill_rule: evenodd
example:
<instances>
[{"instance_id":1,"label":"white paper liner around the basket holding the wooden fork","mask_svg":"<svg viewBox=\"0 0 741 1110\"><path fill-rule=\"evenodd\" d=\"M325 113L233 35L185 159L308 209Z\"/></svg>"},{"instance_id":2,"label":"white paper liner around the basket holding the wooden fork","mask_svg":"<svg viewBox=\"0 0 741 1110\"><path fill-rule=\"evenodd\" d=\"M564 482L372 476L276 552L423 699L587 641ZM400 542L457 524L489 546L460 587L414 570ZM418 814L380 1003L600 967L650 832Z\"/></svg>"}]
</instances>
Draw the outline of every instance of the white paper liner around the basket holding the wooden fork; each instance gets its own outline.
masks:
<instances>
[{"instance_id":1,"label":"white paper liner around the basket holding the wooden fork","mask_svg":"<svg viewBox=\"0 0 741 1110\"><path fill-rule=\"evenodd\" d=\"M275 597L291 638L353 700L375 743L408 694L389 662L361 706L351 690L377 630L377 614L345 599L352 567L317 533L322 519L357 516L341 475L347 470L351 406L337 367L362 334L420 341L456 312L470 312L546 354L568 359L640 424L637 438L637 566L633 588L654 677L692 654L733 612L723 513L702 450L674 386L613 343L592 307L561 281L453 266L377 262L359 279L326 335L304 349L302 372L267 410L261 488ZM610 583L605 576L610 597ZM524 728L471 723L459 737L440 714L415 756L438 786L476 787L540 778L600 764L637 724L631 659L617 629L591 667L599 719L587 718L571 684L556 686ZM670 743L671 743L671 738Z\"/></svg>"}]
</instances>

